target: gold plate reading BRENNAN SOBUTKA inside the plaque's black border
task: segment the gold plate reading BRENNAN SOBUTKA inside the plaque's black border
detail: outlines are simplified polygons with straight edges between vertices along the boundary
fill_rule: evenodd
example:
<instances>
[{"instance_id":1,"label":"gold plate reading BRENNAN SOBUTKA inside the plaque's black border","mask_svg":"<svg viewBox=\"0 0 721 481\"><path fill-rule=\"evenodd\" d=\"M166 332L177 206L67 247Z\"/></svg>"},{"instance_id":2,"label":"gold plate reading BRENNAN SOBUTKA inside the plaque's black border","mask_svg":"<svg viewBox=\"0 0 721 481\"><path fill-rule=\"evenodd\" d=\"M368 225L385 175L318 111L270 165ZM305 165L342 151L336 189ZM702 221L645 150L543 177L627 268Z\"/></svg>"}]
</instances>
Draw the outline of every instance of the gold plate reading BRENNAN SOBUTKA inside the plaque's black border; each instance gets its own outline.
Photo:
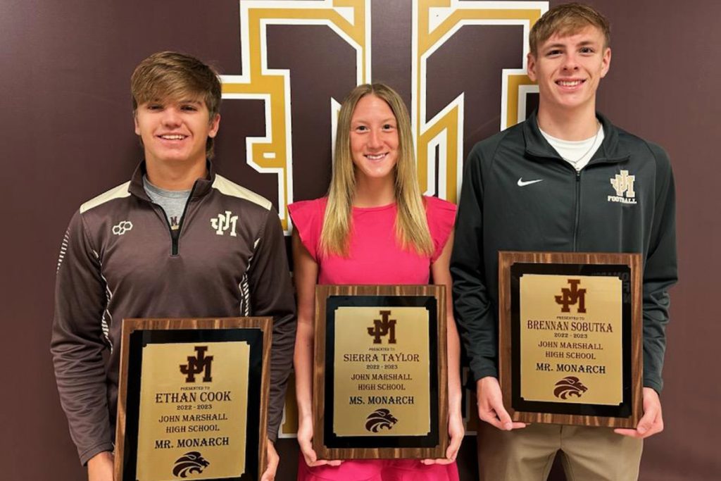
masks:
<instances>
[{"instance_id":1,"label":"gold plate reading BRENNAN SOBUTKA inside the plaque's black border","mask_svg":"<svg viewBox=\"0 0 721 481\"><path fill-rule=\"evenodd\" d=\"M556 296L564 289L578 297L575 304L583 301L583 309L569 306L569 312L562 312L562 304L559 309ZM520 327L524 400L622 403L622 294L619 278L523 275ZM583 382L574 383L570 378Z\"/></svg>"}]
</instances>

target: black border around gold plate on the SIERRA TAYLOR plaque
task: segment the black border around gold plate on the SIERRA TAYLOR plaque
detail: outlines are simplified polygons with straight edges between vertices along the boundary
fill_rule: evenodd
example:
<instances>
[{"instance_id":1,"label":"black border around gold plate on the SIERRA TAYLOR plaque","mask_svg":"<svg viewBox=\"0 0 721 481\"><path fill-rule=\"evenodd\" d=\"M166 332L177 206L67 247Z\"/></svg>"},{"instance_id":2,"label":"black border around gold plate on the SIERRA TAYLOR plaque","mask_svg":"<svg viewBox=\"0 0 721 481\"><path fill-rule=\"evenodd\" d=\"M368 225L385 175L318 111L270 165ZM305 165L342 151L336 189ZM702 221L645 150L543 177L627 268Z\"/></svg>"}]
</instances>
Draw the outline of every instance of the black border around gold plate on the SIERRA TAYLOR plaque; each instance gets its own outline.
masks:
<instances>
[{"instance_id":1,"label":"black border around gold plate on the SIERRA TAYLOR plaque","mask_svg":"<svg viewBox=\"0 0 721 481\"><path fill-rule=\"evenodd\" d=\"M335 311L341 306L378 307L425 307L428 311L428 343L430 362L438 358L438 301L434 296L338 296L330 295L326 301L325 328L325 410L324 441L327 449L355 448L434 448L438 446L438 366L430 369L430 431L425 436L337 436L333 432L332 419L335 411L333 377L335 374Z\"/></svg>"}]
</instances>

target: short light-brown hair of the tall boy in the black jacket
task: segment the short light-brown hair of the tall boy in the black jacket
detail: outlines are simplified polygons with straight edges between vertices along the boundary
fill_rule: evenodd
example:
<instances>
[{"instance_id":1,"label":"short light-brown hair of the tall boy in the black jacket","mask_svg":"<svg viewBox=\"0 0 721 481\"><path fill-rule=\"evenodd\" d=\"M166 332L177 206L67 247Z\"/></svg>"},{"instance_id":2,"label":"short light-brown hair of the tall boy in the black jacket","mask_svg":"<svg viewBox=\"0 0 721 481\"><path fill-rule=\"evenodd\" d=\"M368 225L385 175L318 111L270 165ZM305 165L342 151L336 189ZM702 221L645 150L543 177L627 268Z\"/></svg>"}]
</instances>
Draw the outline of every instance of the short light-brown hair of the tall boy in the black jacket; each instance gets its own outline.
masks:
<instances>
[{"instance_id":1,"label":"short light-brown hair of the tall boy in the black jacket","mask_svg":"<svg viewBox=\"0 0 721 481\"><path fill-rule=\"evenodd\" d=\"M565 37L578 33L588 26L601 30L603 37L606 38L604 48L611 45L611 26L601 12L592 6L578 3L554 6L531 28L531 33L528 35L531 53L537 55L539 45L555 34Z\"/></svg>"}]
</instances>

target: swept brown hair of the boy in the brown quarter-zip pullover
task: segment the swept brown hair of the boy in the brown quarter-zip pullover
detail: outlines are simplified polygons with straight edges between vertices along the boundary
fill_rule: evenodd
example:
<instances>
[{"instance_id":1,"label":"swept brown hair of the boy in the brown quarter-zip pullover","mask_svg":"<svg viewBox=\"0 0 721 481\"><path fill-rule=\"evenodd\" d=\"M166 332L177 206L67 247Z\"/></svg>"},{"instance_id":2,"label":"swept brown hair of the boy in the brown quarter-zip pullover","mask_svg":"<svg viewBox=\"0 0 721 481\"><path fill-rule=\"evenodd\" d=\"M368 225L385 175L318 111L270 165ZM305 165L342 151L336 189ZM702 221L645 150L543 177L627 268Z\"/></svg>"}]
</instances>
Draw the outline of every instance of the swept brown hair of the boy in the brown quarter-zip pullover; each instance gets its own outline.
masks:
<instances>
[{"instance_id":1,"label":"swept brown hair of the boy in the brown quarter-zip pullover","mask_svg":"<svg viewBox=\"0 0 721 481\"><path fill-rule=\"evenodd\" d=\"M153 100L182 100L202 97L213 121L221 107L221 81L218 72L193 56L179 52L157 52L138 63L131 76L133 114L138 105ZM208 159L213 157L213 138L205 144Z\"/></svg>"}]
</instances>

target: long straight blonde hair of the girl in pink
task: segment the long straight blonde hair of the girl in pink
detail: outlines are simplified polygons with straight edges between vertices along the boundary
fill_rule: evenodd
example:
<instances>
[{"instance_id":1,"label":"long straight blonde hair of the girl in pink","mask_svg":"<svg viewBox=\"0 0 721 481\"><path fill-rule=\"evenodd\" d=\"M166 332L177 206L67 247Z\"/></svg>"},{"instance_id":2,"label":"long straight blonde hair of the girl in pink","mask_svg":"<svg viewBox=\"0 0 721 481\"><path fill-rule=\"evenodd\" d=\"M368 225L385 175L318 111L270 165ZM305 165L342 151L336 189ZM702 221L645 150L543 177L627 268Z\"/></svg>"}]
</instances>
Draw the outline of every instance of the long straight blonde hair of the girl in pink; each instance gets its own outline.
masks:
<instances>
[{"instance_id":1,"label":"long straight blonde hair of the girl in pink","mask_svg":"<svg viewBox=\"0 0 721 481\"><path fill-rule=\"evenodd\" d=\"M393 169L397 205L396 239L399 246L421 255L433 254L425 206L416 176L413 136L410 116L400 95L385 84L363 84L351 90L340 106L335 137L335 159L328 190L328 204L320 237L324 255L348 255L353 196L355 195L355 165L350 151L350 119L355 105L366 95L384 100L395 115L398 126L398 159Z\"/></svg>"}]
</instances>

